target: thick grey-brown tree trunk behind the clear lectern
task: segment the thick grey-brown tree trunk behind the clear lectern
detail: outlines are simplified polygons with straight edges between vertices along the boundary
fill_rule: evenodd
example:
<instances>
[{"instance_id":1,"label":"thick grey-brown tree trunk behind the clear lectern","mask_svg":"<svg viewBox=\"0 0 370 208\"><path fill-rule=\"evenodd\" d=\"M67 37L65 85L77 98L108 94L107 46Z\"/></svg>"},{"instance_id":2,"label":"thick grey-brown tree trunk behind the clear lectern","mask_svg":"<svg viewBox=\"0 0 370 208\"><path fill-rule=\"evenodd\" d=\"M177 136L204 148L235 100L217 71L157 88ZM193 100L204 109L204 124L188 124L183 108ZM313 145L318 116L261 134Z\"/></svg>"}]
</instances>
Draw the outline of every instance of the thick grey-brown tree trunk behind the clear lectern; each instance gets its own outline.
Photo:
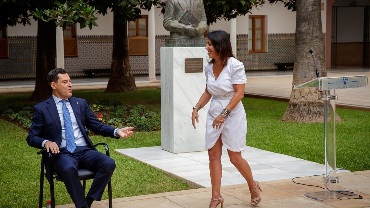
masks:
<instances>
[{"instance_id":1,"label":"thick grey-brown tree trunk behind the clear lectern","mask_svg":"<svg viewBox=\"0 0 370 208\"><path fill-rule=\"evenodd\" d=\"M320 77L327 76L320 3L321 0L297 0L293 85L316 78L316 69L309 53L310 49L313 50ZM323 123L324 102L321 99L322 94L318 88L292 89L289 105L282 120ZM341 121L339 116L337 116L337 121Z\"/></svg>"}]
</instances>

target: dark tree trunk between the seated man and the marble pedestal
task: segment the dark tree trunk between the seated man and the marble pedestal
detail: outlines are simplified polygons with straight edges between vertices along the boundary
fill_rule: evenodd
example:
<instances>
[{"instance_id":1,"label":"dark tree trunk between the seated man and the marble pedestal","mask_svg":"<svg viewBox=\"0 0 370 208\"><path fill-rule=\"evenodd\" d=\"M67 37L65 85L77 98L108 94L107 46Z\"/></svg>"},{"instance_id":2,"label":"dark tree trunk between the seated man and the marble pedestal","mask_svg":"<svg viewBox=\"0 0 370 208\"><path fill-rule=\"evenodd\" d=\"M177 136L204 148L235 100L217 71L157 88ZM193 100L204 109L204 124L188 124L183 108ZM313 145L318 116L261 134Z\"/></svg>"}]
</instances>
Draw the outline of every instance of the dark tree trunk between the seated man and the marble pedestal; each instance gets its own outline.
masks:
<instances>
[{"instance_id":1,"label":"dark tree trunk between the seated man and the marble pedestal","mask_svg":"<svg viewBox=\"0 0 370 208\"><path fill-rule=\"evenodd\" d=\"M113 51L110 77L105 93L137 91L128 57L127 22L113 11Z\"/></svg>"}]
</instances>

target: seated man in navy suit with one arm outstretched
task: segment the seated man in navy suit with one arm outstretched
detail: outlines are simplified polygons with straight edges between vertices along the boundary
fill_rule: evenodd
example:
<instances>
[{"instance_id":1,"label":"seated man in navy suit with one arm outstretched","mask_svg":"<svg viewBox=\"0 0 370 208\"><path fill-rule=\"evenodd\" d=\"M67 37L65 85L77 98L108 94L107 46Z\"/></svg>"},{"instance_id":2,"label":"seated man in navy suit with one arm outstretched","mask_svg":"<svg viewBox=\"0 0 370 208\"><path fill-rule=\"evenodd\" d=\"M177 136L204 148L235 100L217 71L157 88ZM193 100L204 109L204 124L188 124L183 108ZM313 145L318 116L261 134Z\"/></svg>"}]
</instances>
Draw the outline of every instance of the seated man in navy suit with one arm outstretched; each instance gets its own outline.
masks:
<instances>
[{"instance_id":1,"label":"seated man in navy suit with one arm outstretched","mask_svg":"<svg viewBox=\"0 0 370 208\"><path fill-rule=\"evenodd\" d=\"M101 124L84 99L71 97L71 78L64 69L51 70L47 79L53 95L35 105L27 143L55 154L54 170L63 178L75 206L90 207L92 201L101 200L116 166L112 158L96 150L85 127L95 134L113 138L131 136L134 127L118 129ZM78 178L78 167L97 172L86 197Z\"/></svg>"}]
</instances>

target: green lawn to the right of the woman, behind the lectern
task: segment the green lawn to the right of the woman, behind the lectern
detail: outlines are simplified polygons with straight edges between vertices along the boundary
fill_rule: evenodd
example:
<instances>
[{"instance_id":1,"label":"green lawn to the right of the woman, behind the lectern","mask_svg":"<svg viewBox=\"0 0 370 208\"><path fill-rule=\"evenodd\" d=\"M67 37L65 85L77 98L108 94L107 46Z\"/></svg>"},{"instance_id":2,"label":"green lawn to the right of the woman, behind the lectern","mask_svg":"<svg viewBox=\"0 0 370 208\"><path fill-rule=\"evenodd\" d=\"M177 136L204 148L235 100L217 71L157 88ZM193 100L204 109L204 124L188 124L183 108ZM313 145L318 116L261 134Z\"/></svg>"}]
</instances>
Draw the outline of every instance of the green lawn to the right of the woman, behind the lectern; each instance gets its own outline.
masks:
<instances>
[{"instance_id":1,"label":"green lawn to the right of the woman, behind the lectern","mask_svg":"<svg viewBox=\"0 0 370 208\"><path fill-rule=\"evenodd\" d=\"M246 145L324 164L322 123L282 122L287 102L243 98L248 121ZM370 169L370 111L336 108L336 165L351 171Z\"/></svg>"}]
</instances>

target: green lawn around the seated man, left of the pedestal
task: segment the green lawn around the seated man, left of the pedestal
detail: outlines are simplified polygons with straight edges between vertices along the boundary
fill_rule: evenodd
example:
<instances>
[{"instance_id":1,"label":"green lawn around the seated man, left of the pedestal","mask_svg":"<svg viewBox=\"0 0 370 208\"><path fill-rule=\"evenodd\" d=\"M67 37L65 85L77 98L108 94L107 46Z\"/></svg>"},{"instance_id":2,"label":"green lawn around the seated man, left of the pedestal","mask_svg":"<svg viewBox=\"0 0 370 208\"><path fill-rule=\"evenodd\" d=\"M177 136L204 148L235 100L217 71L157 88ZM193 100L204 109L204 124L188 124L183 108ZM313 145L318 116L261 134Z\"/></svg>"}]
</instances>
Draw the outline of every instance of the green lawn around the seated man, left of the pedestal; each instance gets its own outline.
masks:
<instances>
[{"instance_id":1,"label":"green lawn around the seated man, left of the pedestal","mask_svg":"<svg viewBox=\"0 0 370 208\"><path fill-rule=\"evenodd\" d=\"M35 148L26 142L27 132L18 126L0 119L0 207L37 207L40 181L41 156ZM170 177L149 165L122 157L114 150L121 148L147 147L161 145L161 132L135 132L129 139L115 140L101 136L92 136L96 144L108 144L111 157L116 162L112 176L113 198L154 194L190 189L191 187ZM104 152L102 147L100 151ZM87 182L90 187L92 180ZM50 200L48 182L44 182L44 204ZM67 190L62 182L55 182L55 203L71 204ZM103 199L108 198L108 191Z\"/></svg>"}]
</instances>

